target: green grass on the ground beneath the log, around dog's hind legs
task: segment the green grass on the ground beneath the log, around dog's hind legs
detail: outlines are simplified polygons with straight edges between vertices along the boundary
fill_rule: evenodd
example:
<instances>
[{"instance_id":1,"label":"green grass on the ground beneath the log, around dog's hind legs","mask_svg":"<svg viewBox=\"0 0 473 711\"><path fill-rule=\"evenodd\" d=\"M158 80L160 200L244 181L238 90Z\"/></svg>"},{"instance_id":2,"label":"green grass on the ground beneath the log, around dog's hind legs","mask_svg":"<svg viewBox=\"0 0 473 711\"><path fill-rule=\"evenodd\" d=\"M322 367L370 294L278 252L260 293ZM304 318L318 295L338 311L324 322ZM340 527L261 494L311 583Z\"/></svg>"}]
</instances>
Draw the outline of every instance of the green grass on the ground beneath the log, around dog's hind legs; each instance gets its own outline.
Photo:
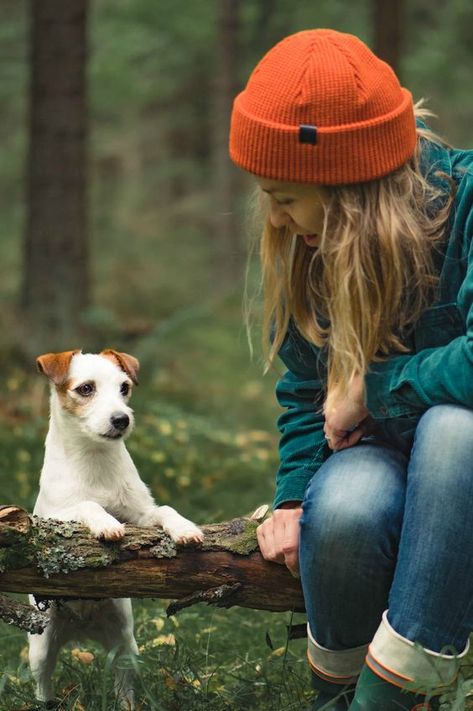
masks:
<instances>
[{"instance_id":1,"label":"green grass on the ground beneath the log, around dog's hind legs","mask_svg":"<svg viewBox=\"0 0 473 711\"><path fill-rule=\"evenodd\" d=\"M310 690L304 643L287 646L288 614L213 610L199 605L167 619L157 601L135 602L140 646L139 708L166 711L211 709L303 709ZM269 640L273 646L268 646ZM0 708L32 710L33 687L24 636L6 631L0 639L3 676ZM64 649L57 667L61 709L115 708L110 659L94 644ZM7 661L8 660L8 661Z\"/></svg>"}]
</instances>

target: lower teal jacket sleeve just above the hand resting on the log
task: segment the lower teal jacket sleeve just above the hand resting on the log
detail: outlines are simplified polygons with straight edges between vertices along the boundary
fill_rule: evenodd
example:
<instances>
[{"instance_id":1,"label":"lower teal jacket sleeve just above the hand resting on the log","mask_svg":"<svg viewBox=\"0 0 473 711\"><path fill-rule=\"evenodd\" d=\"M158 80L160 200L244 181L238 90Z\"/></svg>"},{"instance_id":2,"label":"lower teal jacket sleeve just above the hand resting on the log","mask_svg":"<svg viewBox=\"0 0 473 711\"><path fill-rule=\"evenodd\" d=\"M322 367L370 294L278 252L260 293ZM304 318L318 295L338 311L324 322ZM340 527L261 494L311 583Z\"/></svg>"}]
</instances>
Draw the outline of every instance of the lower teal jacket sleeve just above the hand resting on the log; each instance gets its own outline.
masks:
<instances>
[{"instance_id":1,"label":"lower teal jacket sleeve just above the hand resting on the log","mask_svg":"<svg viewBox=\"0 0 473 711\"><path fill-rule=\"evenodd\" d=\"M285 501L301 501L310 479L330 454L324 417L316 403L319 393L319 380L304 379L291 371L277 383L276 396L286 411L278 420L280 466L274 508Z\"/></svg>"}]
</instances>

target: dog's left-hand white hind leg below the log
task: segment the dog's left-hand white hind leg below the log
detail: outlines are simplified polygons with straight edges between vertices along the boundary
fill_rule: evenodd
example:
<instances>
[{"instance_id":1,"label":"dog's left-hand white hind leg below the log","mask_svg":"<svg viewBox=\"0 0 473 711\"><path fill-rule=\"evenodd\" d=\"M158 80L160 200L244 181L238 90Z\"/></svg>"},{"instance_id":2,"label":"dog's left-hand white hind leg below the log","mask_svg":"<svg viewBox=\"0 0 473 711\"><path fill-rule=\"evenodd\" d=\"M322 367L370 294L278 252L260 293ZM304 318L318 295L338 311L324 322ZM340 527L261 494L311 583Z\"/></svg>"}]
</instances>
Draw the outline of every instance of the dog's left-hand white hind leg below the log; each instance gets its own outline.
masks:
<instances>
[{"instance_id":1,"label":"dog's left-hand white hind leg below the log","mask_svg":"<svg viewBox=\"0 0 473 711\"><path fill-rule=\"evenodd\" d=\"M52 675L61 646L54 632L54 622L50 621L42 634L29 634L28 641L36 698L40 701L49 701L54 698Z\"/></svg>"}]
</instances>

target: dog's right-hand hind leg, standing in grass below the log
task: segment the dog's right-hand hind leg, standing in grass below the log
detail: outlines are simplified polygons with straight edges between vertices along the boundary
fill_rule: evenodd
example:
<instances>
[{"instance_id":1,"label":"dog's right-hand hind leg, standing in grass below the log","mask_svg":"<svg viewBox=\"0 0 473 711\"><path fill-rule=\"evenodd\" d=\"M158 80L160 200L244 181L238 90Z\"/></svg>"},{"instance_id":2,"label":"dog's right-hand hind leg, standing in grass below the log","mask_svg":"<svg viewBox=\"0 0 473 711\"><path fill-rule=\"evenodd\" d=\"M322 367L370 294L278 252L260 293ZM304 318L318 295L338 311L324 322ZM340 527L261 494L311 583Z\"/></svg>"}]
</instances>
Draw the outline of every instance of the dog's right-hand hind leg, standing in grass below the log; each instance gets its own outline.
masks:
<instances>
[{"instance_id":1,"label":"dog's right-hand hind leg, standing in grass below the log","mask_svg":"<svg viewBox=\"0 0 473 711\"><path fill-rule=\"evenodd\" d=\"M136 676L133 658L138 655L138 645L133 634L131 600L121 598L104 601L94 637L107 651L115 652L115 695L120 708L133 711Z\"/></svg>"}]
</instances>

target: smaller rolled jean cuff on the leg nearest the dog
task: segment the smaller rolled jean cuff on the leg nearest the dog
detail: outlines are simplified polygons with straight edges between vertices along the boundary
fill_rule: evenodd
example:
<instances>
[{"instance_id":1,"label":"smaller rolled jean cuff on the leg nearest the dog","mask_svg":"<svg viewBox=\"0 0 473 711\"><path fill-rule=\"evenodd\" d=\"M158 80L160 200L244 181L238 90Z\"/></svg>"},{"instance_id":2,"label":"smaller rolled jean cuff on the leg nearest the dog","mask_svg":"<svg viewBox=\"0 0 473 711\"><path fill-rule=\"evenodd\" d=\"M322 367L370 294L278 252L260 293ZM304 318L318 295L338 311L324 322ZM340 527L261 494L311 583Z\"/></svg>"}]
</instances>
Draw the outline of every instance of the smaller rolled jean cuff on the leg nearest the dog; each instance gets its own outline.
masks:
<instances>
[{"instance_id":1,"label":"smaller rolled jean cuff on the leg nearest the dog","mask_svg":"<svg viewBox=\"0 0 473 711\"><path fill-rule=\"evenodd\" d=\"M315 674L334 684L356 682L363 667L367 644L351 649L326 649L312 636L307 625L307 659Z\"/></svg>"}]
</instances>

